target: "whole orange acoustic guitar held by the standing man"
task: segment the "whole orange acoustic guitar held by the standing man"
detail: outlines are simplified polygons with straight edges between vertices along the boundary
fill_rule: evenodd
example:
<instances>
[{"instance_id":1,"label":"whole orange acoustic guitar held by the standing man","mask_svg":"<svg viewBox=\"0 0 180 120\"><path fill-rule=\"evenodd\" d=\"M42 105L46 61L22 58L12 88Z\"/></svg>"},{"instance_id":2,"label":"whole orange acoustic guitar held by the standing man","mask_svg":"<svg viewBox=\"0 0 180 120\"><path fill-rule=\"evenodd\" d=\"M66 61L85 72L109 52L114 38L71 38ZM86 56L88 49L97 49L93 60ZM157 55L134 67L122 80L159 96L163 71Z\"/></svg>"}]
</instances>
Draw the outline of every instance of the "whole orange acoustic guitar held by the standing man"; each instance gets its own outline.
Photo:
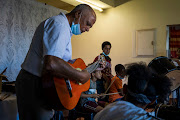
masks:
<instances>
[{"instance_id":1,"label":"whole orange acoustic guitar held by the standing man","mask_svg":"<svg viewBox=\"0 0 180 120\"><path fill-rule=\"evenodd\" d=\"M101 59L102 60L102 59ZM86 69L89 73L92 73L99 66L100 60L93 63L86 68L84 61L81 58L71 60L68 62L69 65L77 70ZM53 80L47 80L53 79ZM43 89L48 96L47 102L50 108L55 110L62 109L73 109L81 96L81 93L87 91L90 87L90 80L86 83L77 83L75 80L57 78L57 77L47 77L42 80Z\"/></svg>"}]
</instances>

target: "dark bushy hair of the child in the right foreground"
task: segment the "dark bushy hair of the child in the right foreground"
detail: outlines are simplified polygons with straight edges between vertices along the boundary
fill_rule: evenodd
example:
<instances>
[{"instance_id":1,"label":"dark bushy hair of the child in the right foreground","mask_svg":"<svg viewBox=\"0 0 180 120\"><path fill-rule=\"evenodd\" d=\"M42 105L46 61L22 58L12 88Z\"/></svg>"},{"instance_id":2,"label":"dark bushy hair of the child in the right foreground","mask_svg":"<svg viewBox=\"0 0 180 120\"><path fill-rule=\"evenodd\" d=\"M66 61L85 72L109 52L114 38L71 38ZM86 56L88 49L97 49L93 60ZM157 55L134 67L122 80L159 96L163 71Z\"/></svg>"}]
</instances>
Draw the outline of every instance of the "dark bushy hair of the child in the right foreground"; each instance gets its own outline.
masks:
<instances>
[{"instance_id":1,"label":"dark bushy hair of the child in the right foreground","mask_svg":"<svg viewBox=\"0 0 180 120\"><path fill-rule=\"evenodd\" d=\"M126 66L130 91L144 94L149 100L155 100L157 96L160 102L167 99L171 92L171 81L168 77L153 73L144 62L131 63Z\"/></svg>"}]
</instances>

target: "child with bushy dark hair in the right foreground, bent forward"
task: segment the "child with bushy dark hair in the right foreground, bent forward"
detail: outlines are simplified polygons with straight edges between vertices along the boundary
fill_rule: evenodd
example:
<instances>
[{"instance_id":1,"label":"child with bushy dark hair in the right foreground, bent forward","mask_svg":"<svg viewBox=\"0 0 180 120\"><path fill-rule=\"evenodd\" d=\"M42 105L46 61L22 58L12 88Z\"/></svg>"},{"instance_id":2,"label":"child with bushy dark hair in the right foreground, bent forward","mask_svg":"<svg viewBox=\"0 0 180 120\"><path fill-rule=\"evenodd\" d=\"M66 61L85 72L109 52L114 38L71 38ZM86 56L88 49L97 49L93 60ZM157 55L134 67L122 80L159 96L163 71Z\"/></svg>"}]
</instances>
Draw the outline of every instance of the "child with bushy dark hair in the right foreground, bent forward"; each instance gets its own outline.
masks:
<instances>
[{"instance_id":1,"label":"child with bushy dark hair in the right foreground, bent forward","mask_svg":"<svg viewBox=\"0 0 180 120\"><path fill-rule=\"evenodd\" d=\"M165 75L153 73L144 62L129 64L127 91L124 100L106 106L96 114L94 120L154 120L144 109L158 99L167 100L171 81ZM124 90L123 90L124 91Z\"/></svg>"}]
</instances>

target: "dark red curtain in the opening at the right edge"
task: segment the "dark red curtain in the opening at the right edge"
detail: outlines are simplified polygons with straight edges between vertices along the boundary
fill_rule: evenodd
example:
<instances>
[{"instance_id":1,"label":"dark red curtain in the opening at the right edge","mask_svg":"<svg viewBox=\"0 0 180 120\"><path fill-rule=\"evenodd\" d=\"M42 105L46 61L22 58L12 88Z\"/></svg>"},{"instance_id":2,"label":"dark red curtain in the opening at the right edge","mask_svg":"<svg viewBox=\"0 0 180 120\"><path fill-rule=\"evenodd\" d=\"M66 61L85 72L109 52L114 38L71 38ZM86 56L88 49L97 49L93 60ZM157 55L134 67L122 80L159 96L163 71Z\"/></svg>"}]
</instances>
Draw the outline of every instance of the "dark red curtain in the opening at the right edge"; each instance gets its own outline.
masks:
<instances>
[{"instance_id":1,"label":"dark red curtain in the opening at the right edge","mask_svg":"<svg viewBox=\"0 0 180 120\"><path fill-rule=\"evenodd\" d=\"M177 49L180 48L180 29L170 27L169 48L171 51L171 58L177 58Z\"/></svg>"}]
</instances>

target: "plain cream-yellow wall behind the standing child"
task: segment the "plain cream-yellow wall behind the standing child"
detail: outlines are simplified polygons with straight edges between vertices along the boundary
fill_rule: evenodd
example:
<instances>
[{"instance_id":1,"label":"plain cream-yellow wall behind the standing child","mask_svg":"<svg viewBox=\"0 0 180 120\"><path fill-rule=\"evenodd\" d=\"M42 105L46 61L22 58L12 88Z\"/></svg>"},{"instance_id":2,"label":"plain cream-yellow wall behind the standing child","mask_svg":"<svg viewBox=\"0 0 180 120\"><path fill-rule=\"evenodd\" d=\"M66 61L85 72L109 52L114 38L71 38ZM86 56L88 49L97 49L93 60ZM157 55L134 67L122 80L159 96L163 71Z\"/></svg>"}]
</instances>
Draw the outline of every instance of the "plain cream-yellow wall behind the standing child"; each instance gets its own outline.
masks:
<instances>
[{"instance_id":1,"label":"plain cream-yellow wall behind the standing child","mask_svg":"<svg viewBox=\"0 0 180 120\"><path fill-rule=\"evenodd\" d=\"M97 21L88 33L73 36L73 58L86 64L102 52L101 43L110 41L112 71L116 64L144 61L154 57L134 58L135 30L156 28L156 56L166 56L166 25L180 24L180 0L131 0L116 8L97 13Z\"/></svg>"}]
</instances>

